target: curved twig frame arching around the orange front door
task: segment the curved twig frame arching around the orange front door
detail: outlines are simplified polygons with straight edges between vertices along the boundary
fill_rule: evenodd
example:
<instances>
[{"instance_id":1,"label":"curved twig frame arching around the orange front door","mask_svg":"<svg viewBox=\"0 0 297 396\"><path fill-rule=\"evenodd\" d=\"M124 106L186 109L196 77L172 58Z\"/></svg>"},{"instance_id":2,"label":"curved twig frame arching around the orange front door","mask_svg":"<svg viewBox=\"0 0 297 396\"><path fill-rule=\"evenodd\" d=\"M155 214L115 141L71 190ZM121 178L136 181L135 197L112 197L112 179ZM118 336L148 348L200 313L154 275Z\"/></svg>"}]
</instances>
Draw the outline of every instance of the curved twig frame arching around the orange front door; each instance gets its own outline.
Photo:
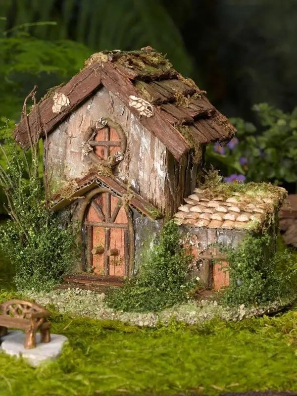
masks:
<instances>
[{"instance_id":1,"label":"curved twig frame arching around the orange front door","mask_svg":"<svg viewBox=\"0 0 297 396\"><path fill-rule=\"evenodd\" d=\"M113 197L116 197L120 199L122 203L122 207L125 209L126 215L127 215L127 223L128 223L128 251L127 253L129 254L128 257L128 269L126 271L125 269L125 276L132 277L133 276L133 269L134 269L134 256L135 256L135 241L134 241L134 226L133 226L133 220L131 216L131 210L129 208L128 203L124 202L122 197L118 196L115 194L112 190L106 188L106 187L98 187L92 190L89 194L86 195L84 198L82 205L80 207L80 214L78 217L78 223L79 223L79 228L80 228L80 243L81 243L81 248L82 248L82 269L86 269L88 264L88 261L90 263L90 254L91 251L87 251L87 254L85 252L86 249L89 248L90 250L90 245L88 247L88 241L86 241L86 229L85 229L85 216L86 216L86 211L89 209L89 204L91 200L99 194L102 193L108 193L112 195ZM107 227L106 227L107 228ZM112 227L111 227L112 228ZM109 229L111 229L109 228ZM126 254L126 252L125 252ZM89 255L89 258L86 260L86 256ZM127 272L127 273L126 273ZM107 276L107 275L106 275Z\"/></svg>"}]
</instances>

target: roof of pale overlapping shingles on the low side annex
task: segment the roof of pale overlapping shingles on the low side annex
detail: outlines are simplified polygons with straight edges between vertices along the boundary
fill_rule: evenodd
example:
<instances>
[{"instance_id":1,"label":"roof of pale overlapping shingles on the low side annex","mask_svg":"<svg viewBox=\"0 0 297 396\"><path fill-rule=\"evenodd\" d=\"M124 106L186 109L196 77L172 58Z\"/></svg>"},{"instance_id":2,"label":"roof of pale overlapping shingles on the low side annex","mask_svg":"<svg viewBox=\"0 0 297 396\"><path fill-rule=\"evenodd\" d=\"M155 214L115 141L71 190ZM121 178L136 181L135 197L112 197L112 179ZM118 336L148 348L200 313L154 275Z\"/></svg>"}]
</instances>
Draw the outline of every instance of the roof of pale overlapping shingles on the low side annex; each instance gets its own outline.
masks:
<instances>
[{"instance_id":1,"label":"roof of pale overlapping shingles on the low side annex","mask_svg":"<svg viewBox=\"0 0 297 396\"><path fill-rule=\"evenodd\" d=\"M184 227L250 230L264 225L280 204L280 190L275 194L263 190L234 192L229 198L214 196L209 189L196 188L185 204L178 208L174 219ZM286 191L281 189L285 197ZM213 198L210 198L213 197ZM284 198L283 197L283 198Z\"/></svg>"}]
</instances>

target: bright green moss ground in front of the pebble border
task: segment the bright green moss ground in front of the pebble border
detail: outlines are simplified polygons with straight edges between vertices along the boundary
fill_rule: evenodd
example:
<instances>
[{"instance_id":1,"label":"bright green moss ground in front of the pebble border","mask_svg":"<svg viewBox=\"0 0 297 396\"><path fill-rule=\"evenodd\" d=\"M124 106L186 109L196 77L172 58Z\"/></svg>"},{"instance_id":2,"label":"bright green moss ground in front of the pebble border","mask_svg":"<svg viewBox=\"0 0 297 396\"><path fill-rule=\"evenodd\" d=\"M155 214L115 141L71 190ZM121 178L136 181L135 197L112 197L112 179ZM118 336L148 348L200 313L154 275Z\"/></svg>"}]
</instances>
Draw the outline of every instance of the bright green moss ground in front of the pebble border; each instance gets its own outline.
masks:
<instances>
[{"instance_id":1,"label":"bright green moss ground in front of the pebble border","mask_svg":"<svg viewBox=\"0 0 297 396\"><path fill-rule=\"evenodd\" d=\"M3 292L0 300L12 296ZM69 338L55 362L34 369L0 354L1 396L297 391L294 310L154 330L55 313L52 331Z\"/></svg>"}]
</instances>

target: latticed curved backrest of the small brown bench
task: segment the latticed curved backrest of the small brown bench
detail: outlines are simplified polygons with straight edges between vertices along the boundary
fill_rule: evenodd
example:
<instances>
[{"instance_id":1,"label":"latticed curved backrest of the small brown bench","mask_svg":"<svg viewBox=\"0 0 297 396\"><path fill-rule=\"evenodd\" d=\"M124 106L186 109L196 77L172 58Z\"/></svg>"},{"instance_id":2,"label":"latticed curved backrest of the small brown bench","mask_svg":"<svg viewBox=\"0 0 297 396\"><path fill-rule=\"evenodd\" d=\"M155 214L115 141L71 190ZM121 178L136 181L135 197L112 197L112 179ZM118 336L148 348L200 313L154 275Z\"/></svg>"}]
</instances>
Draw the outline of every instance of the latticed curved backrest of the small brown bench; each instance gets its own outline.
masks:
<instances>
[{"instance_id":1,"label":"latticed curved backrest of the small brown bench","mask_svg":"<svg viewBox=\"0 0 297 396\"><path fill-rule=\"evenodd\" d=\"M7 315L16 319L31 319L32 314L48 312L41 305L25 300L10 300L0 304L0 315Z\"/></svg>"}]
</instances>

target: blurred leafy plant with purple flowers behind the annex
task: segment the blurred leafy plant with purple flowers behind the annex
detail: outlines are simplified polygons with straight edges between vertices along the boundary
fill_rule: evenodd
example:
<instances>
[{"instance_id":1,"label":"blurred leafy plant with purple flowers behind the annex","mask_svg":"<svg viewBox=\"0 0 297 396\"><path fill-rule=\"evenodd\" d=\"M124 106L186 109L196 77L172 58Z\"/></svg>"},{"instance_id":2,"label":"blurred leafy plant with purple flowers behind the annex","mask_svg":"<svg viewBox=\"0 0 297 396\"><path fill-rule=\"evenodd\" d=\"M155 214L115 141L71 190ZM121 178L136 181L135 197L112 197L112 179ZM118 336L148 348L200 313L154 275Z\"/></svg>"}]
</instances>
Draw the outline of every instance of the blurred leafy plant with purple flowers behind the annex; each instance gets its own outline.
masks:
<instances>
[{"instance_id":1,"label":"blurred leafy plant with purple flowers behind the annex","mask_svg":"<svg viewBox=\"0 0 297 396\"><path fill-rule=\"evenodd\" d=\"M238 130L234 144L207 148L207 160L227 176L244 174L248 181L297 183L297 108L291 113L267 103L253 106L258 125L231 118Z\"/></svg>"}]
</instances>

